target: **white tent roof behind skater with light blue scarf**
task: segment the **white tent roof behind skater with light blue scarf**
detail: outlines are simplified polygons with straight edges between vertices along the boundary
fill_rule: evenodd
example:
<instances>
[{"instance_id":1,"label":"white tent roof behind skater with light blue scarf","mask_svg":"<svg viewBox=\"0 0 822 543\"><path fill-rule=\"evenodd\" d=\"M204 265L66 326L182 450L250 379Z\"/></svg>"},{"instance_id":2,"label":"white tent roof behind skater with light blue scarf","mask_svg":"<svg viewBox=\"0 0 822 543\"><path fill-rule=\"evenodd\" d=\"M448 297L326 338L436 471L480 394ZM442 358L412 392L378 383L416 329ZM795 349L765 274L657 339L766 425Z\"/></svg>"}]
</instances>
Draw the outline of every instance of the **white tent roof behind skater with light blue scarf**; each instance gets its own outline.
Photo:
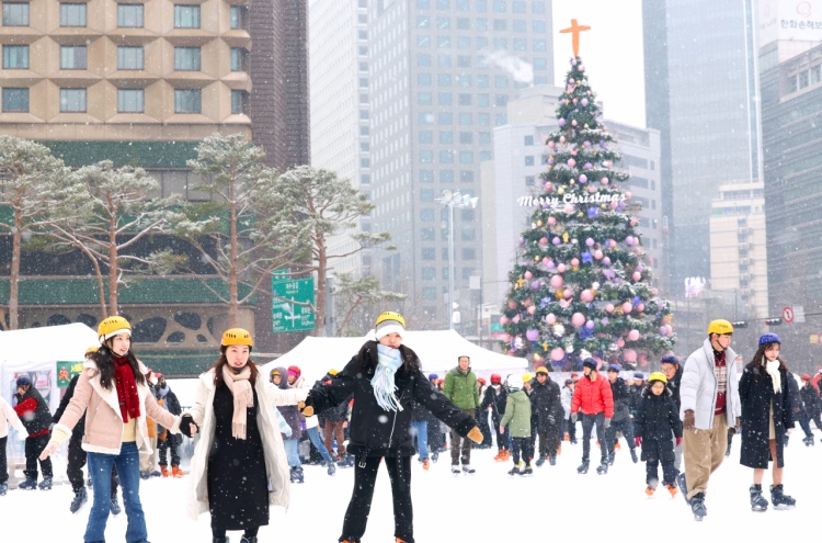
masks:
<instances>
[{"instance_id":1,"label":"white tent roof behind skater with light blue scarf","mask_svg":"<svg viewBox=\"0 0 822 543\"><path fill-rule=\"evenodd\" d=\"M365 338L313 338L304 339L297 347L275 361L265 364L266 373L277 366L296 365L308 383L321 378L330 369L342 370L355 355ZM478 377L488 378L499 373L502 378L510 373L522 374L528 366L525 359L506 357L478 347L454 330L406 331L402 343L413 349L427 375L436 373L441 378L457 365L457 358L471 358L471 369Z\"/></svg>"}]
</instances>

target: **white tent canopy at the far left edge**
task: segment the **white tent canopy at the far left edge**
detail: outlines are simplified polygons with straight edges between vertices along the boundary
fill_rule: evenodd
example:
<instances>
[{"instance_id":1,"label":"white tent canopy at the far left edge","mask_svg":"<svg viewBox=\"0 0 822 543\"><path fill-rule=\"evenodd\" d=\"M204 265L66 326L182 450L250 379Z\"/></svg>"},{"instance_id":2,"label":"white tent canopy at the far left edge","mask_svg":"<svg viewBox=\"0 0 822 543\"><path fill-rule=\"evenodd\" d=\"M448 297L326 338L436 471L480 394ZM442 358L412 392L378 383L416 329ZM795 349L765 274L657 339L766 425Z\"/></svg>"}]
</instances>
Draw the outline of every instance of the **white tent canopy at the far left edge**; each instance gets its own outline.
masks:
<instances>
[{"instance_id":1,"label":"white tent canopy at the far left edge","mask_svg":"<svg viewBox=\"0 0 822 543\"><path fill-rule=\"evenodd\" d=\"M54 411L60 405L57 362L82 362L85 349L98 344L98 333L81 323L0 332L0 394L11 403L15 375L27 372Z\"/></svg>"}]
</instances>

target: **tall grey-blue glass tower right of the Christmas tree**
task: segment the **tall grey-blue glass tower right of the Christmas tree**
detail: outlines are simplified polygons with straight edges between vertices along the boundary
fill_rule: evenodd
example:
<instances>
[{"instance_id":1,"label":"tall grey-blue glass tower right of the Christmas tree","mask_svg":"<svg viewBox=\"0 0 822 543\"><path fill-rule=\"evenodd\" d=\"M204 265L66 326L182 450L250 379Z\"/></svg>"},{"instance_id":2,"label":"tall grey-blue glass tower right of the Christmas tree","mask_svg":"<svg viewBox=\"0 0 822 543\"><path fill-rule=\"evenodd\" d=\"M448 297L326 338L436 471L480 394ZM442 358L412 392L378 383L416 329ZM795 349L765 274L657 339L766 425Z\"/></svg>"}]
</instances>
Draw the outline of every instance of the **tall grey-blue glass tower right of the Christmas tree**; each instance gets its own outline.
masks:
<instances>
[{"instance_id":1,"label":"tall grey-blue glass tower right of the Christmas tree","mask_svg":"<svg viewBox=\"0 0 822 543\"><path fill-rule=\"evenodd\" d=\"M708 278L718 186L760 177L754 0L642 0L647 126L660 131L671 295Z\"/></svg>"}]
</instances>

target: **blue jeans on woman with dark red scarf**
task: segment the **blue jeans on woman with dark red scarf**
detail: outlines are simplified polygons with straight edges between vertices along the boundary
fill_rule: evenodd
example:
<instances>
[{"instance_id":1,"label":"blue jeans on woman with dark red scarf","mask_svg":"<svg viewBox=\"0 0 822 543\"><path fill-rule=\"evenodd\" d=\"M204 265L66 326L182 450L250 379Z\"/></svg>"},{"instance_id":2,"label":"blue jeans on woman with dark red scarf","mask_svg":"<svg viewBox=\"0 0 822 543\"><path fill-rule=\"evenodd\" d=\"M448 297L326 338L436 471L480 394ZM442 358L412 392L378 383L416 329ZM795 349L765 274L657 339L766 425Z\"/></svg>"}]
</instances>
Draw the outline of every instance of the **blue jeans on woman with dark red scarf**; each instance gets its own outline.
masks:
<instances>
[{"instance_id":1,"label":"blue jeans on woman with dark red scarf","mask_svg":"<svg viewBox=\"0 0 822 543\"><path fill-rule=\"evenodd\" d=\"M94 487L94 504L89 512L89 524L85 527L85 543L105 541L105 523L112 498L112 464L117 467L119 486L123 487L123 505L126 508L128 528L127 543L147 541L146 516L140 504L140 455L137 444L127 441L122 444L119 454L88 453L89 474Z\"/></svg>"}]
</instances>

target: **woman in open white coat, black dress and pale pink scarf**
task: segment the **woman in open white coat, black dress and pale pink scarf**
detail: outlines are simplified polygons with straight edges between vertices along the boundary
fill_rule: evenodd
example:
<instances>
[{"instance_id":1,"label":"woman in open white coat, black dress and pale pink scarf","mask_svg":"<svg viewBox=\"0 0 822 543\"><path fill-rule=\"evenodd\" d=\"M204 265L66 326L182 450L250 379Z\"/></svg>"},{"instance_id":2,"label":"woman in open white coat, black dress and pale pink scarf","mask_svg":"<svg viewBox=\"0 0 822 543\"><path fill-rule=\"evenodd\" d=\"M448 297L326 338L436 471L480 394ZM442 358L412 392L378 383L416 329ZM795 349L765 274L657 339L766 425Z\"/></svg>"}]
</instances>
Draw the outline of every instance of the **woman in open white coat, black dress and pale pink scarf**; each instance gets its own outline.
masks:
<instances>
[{"instance_id":1,"label":"woman in open white coat, black dress and pale pink scarf","mask_svg":"<svg viewBox=\"0 0 822 543\"><path fill-rule=\"evenodd\" d=\"M288 507L289 480L279 427L271 406L297 405L308 389L276 388L251 360L251 335L222 333L221 355L199 376L197 397L181 430L202 438L191 467L189 516L210 511L214 543L229 530L244 531L241 543L256 543L269 524L269 507Z\"/></svg>"}]
</instances>

